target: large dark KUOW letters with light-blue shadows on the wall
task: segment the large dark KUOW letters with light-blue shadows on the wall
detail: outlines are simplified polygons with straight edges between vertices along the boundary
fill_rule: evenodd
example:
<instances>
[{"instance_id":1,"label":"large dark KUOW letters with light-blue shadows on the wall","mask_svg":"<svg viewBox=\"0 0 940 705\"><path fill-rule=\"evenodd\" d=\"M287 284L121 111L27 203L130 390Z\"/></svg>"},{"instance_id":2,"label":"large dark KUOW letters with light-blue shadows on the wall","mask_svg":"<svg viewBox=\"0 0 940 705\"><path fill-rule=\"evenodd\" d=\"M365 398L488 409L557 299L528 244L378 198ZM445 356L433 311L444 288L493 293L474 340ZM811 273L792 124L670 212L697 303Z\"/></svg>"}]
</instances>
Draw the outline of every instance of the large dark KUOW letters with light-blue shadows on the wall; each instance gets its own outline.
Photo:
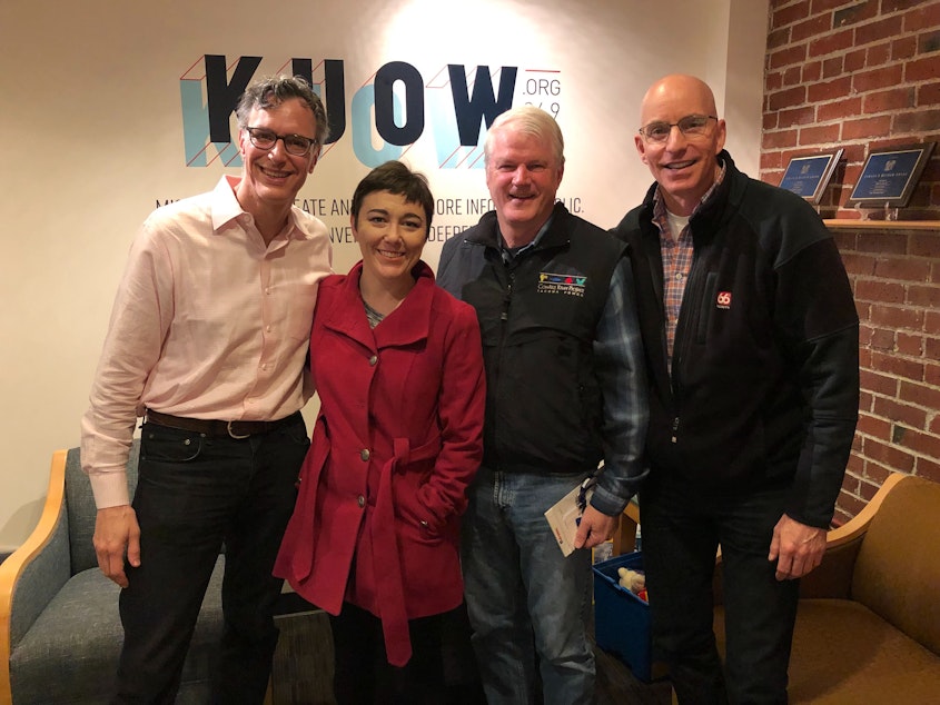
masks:
<instances>
[{"instance_id":1,"label":"large dark KUOW letters with light-blue shadows on the wall","mask_svg":"<svg viewBox=\"0 0 940 705\"><path fill-rule=\"evenodd\" d=\"M206 54L180 78L187 167L241 166L230 118L260 63L261 57L239 57L229 66L225 56ZM389 61L347 103L343 59L324 59L316 67L311 59L288 63L289 72L309 80L324 101L329 120L324 151L349 132L356 158L368 168L398 159L428 126L439 168L482 168L482 136L512 107L518 73L517 67L491 73L486 66L468 71L451 63L425 82L410 63ZM288 63L278 72L288 72ZM379 145L373 140L373 121Z\"/></svg>"}]
</instances>

